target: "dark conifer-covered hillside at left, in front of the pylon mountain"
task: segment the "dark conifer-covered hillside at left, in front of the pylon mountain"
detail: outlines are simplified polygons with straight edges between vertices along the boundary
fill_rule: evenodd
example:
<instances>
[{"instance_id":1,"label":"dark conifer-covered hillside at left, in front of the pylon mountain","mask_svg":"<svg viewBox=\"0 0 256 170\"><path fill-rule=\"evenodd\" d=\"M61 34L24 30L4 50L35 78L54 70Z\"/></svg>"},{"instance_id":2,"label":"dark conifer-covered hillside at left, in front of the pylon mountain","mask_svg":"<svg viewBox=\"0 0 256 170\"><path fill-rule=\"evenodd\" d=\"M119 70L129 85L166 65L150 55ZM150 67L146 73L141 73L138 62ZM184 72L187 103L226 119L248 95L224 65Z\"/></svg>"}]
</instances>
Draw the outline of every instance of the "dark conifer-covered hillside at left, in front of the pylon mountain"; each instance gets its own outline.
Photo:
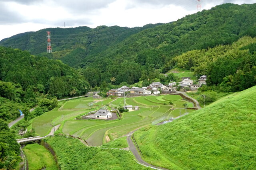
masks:
<instances>
[{"instance_id":1,"label":"dark conifer-covered hillside at left, in front of the pylon mountain","mask_svg":"<svg viewBox=\"0 0 256 170\"><path fill-rule=\"evenodd\" d=\"M0 80L57 98L85 94L89 87L83 76L59 60L5 47L0 47Z\"/></svg>"}]
</instances>

